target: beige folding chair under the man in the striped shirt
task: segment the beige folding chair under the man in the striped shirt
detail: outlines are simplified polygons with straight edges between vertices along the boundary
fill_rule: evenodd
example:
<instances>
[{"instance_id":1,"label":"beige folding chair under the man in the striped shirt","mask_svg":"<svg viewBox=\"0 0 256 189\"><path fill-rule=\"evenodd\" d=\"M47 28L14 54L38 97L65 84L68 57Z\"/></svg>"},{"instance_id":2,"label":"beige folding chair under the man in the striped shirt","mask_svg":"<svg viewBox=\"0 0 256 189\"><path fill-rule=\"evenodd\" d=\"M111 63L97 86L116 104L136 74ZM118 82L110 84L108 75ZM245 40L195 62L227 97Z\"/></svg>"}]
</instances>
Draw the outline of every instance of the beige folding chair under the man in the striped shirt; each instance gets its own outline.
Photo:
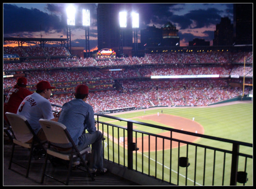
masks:
<instances>
[{"instance_id":1,"label":"beige folding chair under the man in the striped shirt","mask_svg":"<svg viewBox=\"0 0 256 189\"><path fill-rule=\"evenodd\" d=\"M51 120L47 120L47 119L39 119L39 123L41 124L41 127L43 128L43 131L46 134L46 138L48 140L48 148L46 149L46 152L47 152L46 153L46 161L45 161L45 164L43 167L41 183L43 183L44 176L48 176L50 178L53 178L56 181L59 181L60 183L68 185L69 176L70 176L71 169L72 169L72 163L74 161L74 158L76 158L76 157L80 158L80 160L82 161L82 165L86 168L87 172L91 176L91 179L94 181L95 180L94 176L89 171L89 168L85 162L85 159L82 157L82 155L85 155L86 153L91 151L91 147L87 147L87 148L79 151L76 147L76 144L74 143L71 136L69 135L69 133L66 129L66 126L59 122L51 121ZM61 144L71 143L72 151L70 153L62 153L61 151L56 151L54 148L52 148L52 147L54 147L54 144L52 144L52 143L61 143ZM59 149L61 149L61 148L59 148ZM69 161L68 172L67 172L65 182L60 181L60 180L58 180L52 176L49 176L45 173L48 155Z\"/></svg>"}]
</instances>

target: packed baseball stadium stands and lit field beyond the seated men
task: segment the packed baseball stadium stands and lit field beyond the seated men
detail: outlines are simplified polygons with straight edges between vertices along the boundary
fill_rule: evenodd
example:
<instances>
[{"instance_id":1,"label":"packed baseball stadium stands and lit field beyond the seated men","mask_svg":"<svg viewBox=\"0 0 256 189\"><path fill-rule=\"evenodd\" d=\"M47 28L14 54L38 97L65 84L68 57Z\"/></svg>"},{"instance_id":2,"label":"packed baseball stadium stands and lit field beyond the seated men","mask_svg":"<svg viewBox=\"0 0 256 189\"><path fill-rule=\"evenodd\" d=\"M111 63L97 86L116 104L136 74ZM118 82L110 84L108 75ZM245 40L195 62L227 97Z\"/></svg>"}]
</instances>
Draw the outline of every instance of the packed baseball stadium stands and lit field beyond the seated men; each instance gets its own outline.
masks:
<instances>
[{"instance_id":1,"label":"packed baseball stadium stands and lit field beyond the seated men","mask_svg":"<svg viewBox=\"0 0 256 189\"><path fill-rule=\"evenodd\" d=\"M88 85L87 103L104 134L104 164L138 185L248 186L253 54L230 49L78 59L65 47L4 47L3 90L7 95L18 76L30 91L49 81L56 87L49 100L59 111L78 84Z\"/></svg>"}]
</instances>

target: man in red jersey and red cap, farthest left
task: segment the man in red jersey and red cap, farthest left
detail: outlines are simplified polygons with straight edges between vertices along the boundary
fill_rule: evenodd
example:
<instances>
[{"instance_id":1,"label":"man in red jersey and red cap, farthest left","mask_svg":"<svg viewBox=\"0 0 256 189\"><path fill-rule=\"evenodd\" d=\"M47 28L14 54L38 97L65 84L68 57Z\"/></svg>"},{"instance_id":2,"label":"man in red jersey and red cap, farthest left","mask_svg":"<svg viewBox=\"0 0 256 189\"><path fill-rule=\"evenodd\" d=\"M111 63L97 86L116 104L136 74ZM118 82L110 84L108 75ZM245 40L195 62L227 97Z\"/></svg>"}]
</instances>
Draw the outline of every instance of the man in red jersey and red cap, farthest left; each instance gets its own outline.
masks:
<instances>
[{"instance_id":1,"label":"man in red jersey and red cap, farthest left","mask_svg":"<svg viewBox=\"0 0 256 189\"><path fill-rule=\"evenodd\" d=\"M24 98L33 92L26 89L27 85L27 79L26 77L18 77L17 83L11 88L9 91L7 97L4 101L4 120L9 123L5 113L11 112L11 113L17 113L17 110L20 106L20 103Z\"/></svg>"}]
</instances>

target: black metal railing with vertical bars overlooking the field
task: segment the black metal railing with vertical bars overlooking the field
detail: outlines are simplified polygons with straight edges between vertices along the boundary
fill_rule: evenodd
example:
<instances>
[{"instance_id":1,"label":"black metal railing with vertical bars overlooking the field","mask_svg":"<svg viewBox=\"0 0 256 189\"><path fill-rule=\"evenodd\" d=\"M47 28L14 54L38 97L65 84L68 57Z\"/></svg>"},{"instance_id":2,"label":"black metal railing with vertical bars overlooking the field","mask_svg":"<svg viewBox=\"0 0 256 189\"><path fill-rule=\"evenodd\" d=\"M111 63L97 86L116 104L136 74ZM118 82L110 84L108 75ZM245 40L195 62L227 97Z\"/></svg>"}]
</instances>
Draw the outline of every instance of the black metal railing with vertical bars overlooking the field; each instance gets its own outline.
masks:
<instances>
[{"instance_id":1,"label":"black metal railing with vertical bars overlooking the field","mask_svg":"<svg viewBox=\"0 0 256 189\"><path fill-rule=\"evenodd\" d=\"M106 137L104 158L129 170L173 185L247 185L248 179L253 180L250 143L100 113L95 113L95 123ZM145 129L134 128L139 126ZM169 136L147 132L149 128L158 130L154 133L164 130ZM182 137L174 138L174 133ZM186 136L200 139L188 142ZM204 145L206 140L212 145Z\"/></svg>"}]
</instances>

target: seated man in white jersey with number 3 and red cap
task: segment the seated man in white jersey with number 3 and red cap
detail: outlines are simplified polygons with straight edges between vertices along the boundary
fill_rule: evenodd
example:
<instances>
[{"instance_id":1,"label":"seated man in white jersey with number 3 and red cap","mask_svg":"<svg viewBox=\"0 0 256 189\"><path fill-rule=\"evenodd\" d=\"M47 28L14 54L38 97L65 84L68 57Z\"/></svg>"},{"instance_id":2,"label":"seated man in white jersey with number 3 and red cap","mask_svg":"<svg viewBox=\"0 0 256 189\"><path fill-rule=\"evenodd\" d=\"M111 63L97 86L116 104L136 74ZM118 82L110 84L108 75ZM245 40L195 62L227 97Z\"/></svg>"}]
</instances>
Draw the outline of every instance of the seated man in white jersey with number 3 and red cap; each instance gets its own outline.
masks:
<instances>
[{"instance_id":1,"label":"seated man in white jersey with number 3 and red cap","mask_svg":"<svg viewBox=\"0 0 256 189\"><path fill-rule=\"evenodd\" d=\"M52 105L49 102L49 98L52 93L52 87L48 81L40 81L36 85L37 90L35 93L27 96L20 104L17 114L26 117L28 123L31 125L35 134L37 134L40 140L46 140L46 136L39 123L39 119L48 119L58 121L57 117L54 117L52 112ZM22 142L32 142L33 136L16 136L16 138Z\"/></svg>"}]
</instances>

